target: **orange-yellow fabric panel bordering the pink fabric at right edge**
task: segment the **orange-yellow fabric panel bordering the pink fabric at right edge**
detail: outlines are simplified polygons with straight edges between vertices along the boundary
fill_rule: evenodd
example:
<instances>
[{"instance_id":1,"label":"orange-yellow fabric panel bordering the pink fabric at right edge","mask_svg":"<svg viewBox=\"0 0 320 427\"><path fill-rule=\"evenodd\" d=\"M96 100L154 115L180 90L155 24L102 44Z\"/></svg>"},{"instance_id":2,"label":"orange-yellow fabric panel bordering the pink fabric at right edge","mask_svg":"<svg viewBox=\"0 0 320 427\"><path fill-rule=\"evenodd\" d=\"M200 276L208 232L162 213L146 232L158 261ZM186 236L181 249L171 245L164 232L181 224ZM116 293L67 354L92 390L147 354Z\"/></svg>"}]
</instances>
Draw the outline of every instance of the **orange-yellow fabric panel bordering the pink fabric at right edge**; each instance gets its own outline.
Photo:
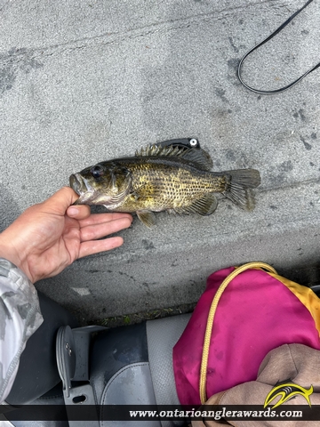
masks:
<instances>
[{"instance_id":1,"label":"orange-yellow fabric panel bordering the pink fabric at right edge","mask_svg":"<svg viewBox=\"0 0 320 427\"><path fill-rule=\"evenodd\" d=\"M295 294L306 309L308 309L312 318L315 320L316 330L320 333L320 299L316 296L313 290L308 286L299 285L298 283L292 282L292 280L289 280L288 278L283 278L278 274L269 273L269 275L282 282L292 291L292 294Z\"/></svg>"}]
</instances>

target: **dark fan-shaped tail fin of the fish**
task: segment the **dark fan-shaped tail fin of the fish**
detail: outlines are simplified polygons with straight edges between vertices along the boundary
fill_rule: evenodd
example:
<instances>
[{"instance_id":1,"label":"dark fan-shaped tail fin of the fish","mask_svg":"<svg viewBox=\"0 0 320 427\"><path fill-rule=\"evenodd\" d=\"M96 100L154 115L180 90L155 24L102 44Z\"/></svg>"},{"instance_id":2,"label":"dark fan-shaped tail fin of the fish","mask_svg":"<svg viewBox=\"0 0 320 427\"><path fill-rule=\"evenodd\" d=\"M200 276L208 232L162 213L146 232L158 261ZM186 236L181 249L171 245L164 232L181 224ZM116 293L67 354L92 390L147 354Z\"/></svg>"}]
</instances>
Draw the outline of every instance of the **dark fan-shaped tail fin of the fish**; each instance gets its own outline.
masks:
<instances>
[{"instance_id":1,"label":"dark fan-shaped tail fin of the fish","mask_svg":"<svg viewBox=\"0 0 320 427\"><path fill-rule=\"evenodd\" d=\"M260 185L260 173L256 169L238 169L224 172L229 176L223 194L245 211L254 209L255 200L251 189Z\"/></svg>"}]
</instances>

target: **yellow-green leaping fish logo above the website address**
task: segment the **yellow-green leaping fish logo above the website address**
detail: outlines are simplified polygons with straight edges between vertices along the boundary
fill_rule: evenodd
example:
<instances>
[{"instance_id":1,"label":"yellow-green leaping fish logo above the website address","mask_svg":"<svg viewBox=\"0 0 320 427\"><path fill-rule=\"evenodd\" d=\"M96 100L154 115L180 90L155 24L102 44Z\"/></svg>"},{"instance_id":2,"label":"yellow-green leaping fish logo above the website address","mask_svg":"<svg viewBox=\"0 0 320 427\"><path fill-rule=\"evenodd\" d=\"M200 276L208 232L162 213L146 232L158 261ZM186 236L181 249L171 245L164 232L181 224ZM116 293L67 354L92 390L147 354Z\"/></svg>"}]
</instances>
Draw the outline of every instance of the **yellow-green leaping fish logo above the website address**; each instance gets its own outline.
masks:
<instances>
[{"instance_id":1,"label":"yellow-green leaping fish logo above the website address","mask_svg":"<svg viewBox=\"0 0 320 427\"><path fill-rule=\"evenodd\" d=\"M271 407L279 407L283 403L287 402L290 399L294 399L294 397L298 394L303 396L307 402L309 407L311 407L310 396L313 393L313 386L311 385L309 389L305 389L301 387L299 384L285 382L285 383L277 383L275 387L268 393L268 396L265 400L263 407L268 407L268 405L275 400L277 397L280 399L276 402L276 404Z\"/></svg>"}]
</instances>

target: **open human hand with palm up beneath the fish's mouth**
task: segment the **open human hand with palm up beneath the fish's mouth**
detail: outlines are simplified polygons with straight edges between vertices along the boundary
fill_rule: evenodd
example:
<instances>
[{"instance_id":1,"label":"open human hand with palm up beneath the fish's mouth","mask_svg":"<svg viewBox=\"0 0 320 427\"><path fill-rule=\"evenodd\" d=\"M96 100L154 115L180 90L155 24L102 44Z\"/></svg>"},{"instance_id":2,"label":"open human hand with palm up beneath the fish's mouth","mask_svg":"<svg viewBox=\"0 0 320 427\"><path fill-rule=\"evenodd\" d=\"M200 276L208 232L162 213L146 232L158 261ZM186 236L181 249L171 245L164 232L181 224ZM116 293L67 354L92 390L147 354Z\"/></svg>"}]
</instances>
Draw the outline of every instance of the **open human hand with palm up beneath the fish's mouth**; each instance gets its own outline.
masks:
<instances>
[{"instance_id":1,"label":"open human hand with palm up beneath the fish's mouth","mask_svg":"<svg viewBox=\"0 0 320 427\"><path fill-rule=\"evenodd\" d=\"M121 246L120 237L97 240L130 227L131 214L91 214L72 204L78 195L63 187L30 206L0 234L0 257L13 262L32 283L51 278L78 258Z\"/></svg>"}]
</instances>

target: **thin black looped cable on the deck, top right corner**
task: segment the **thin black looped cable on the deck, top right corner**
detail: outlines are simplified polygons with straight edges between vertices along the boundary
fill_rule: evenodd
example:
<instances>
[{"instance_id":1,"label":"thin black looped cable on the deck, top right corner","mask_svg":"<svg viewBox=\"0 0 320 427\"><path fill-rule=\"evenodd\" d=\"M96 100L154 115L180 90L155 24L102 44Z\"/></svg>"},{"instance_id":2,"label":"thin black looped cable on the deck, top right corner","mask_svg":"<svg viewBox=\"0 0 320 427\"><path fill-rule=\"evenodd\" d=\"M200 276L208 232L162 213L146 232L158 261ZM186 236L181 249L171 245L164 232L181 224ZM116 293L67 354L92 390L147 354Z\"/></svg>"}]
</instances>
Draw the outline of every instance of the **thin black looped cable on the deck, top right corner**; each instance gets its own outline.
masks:
<instances>
[{"instance_id":1,"label":"thin black looped cable on the deck, top right corner","mask_svg":"<svg viewBox=\"0 0 320 427\"><path fill-rule=\"evenodd\" d=\"M241 71L242 71L242 66L244 64L244 60L250 55L250 53L252 53L256 49L258 49L260 46L262 46L262 44L267 43L272 37L276 36L276 34L278 34L281 30L283 30L284 27L286 27L298 15L298 13L303 11L303 9L305 9L308 6L308 4L310 4L311 2L313 2L313 0L308 0L308 2L306 4L304 4L297 12L294 12L288 20L286 20L282 25L280 25L279 28L276 28L276 31L274 31L272 34L270 34L270 36L268 36L267 38L262 40L262 42L260 42L256 46L252 47L252 49L250 49L248 52L246 52L245 55L243 56L243 58L240 60L238 68L237 68L237 77L239 78L240 82L244 85L244 87L249 89L249 91L252 91L254 93L259 93L260 95L273 95L275 93L284 92L287 89L289 89L290 87L297 85L297 83L299 83L300 80L302 80L302 78L308 76L308 74L310 74L316 68L320 67L320 62L319 62L314 67L308 69L308 71L306 73L304 73L302 76L300 76L299 78L297 78L297 80L294 80L294 82L292 82L290 85L286 85L284 87L281 87L280 89L276 89L275 91L261 91L259 89L254 89L253 87L244 83L244 80L241 77Z\"/></svg>"}]
</instances>

